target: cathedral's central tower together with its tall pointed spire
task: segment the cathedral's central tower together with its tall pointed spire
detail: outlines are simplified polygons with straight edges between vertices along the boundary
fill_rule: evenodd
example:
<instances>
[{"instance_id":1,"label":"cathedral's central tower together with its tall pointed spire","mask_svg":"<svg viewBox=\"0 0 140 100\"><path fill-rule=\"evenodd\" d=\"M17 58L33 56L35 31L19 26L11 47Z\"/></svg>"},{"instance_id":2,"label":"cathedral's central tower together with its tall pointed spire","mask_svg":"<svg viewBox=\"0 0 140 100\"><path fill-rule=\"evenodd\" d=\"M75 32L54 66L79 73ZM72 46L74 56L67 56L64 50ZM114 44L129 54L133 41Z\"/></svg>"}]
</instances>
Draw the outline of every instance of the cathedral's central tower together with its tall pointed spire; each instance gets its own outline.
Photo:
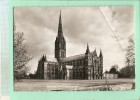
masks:
<instances>
[{"instance_id":1,"label":"cathedral's central tower together with its tall pointed spire","mask_svg":"<svg viewBox=\"0 0 140 100\"><path fill-rule=\"evenodd\" d=\"M62 58L66 57L66 41L63 36L63 28L61 21L61 11L59 16L59 24L58 24L58 35L55 40L55 58L60 61Z\"/></svg>"}]
</instances>

